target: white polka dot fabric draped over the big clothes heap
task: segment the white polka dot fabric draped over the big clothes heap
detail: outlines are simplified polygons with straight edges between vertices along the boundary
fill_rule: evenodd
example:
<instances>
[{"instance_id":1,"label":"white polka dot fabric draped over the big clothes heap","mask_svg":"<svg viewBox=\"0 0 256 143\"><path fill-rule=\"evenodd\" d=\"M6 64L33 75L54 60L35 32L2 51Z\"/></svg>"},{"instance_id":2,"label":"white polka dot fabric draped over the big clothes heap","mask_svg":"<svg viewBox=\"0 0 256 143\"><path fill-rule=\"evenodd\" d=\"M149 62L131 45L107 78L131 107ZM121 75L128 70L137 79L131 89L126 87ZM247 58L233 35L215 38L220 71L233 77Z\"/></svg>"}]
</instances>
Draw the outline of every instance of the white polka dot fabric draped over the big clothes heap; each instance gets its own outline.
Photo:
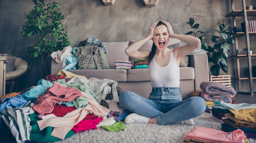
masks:
<instances>
[{"instance_id":1,"label":"white polka dot fabric draped over the big clothes heap","mask_svg":"<svg viewBox=\"0 0 256 143\"><path fill-rule=\"evenodd\" d=\"M79 78L77 76L70 79L67 84L70 83L84 83L87 88L95 93L97 102L100 103L101 100L105 100L106 95L110 93L111 87L108 86L108 83L113 83L112 90L113 90L113 99L115 102L119 102L118 94L117 94L117 81L110 80L110 79L96 79L96 80L88 80L86 78Z\"/></svg>"}]
</instances>

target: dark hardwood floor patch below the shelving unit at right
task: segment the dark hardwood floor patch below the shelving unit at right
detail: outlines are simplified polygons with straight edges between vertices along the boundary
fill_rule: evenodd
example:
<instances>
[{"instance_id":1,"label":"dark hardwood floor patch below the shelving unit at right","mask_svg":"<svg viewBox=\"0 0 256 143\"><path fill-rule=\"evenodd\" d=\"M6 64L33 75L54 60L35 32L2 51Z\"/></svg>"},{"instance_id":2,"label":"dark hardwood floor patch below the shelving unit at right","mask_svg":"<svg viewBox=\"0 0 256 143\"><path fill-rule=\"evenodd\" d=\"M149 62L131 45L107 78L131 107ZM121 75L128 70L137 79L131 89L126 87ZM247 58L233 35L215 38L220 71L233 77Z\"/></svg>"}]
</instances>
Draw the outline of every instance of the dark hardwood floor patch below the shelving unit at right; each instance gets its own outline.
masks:
<instances>
[{"instance_id":1,"label":"dark hardwood floor patch below the shelving unit at right","mask_svg":"<svg viewBox=\"0 0 256 143\"><path fill-rule=\"evenodd\" d=\"M236 103L256 104L256 92L253 92L253 95L237 93L235 97L231 99Z\"/></svg>"}]
</instances>

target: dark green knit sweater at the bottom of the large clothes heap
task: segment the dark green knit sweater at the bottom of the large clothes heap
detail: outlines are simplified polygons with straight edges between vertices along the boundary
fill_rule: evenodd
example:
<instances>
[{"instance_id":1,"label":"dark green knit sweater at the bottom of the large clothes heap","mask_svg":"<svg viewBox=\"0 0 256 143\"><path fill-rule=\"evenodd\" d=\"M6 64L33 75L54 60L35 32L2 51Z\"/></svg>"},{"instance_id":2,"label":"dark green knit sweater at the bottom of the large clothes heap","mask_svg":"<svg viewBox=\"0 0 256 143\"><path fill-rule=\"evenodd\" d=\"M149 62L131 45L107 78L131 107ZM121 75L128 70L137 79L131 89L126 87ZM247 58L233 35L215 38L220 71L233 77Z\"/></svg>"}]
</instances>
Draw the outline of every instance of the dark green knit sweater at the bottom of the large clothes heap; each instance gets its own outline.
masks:
<instances>
[{"instance_id":1,"label":"dark green knit sweater at the bottom of the large clothes heap","mask_svg":"<svg viewBox=\"0 0 256 143\"><path fill-rule=\"evenodd\" d=\"M60 141L62 139L59 139L57 137L53 137L51 135L53 131L53 127L46 127L43 130L40 130L37 124L38 120L41 120L38 118L38 115L36 114L30 114L29 115L31 122L30 125L32 127L31 133L30 133L30 140L34 142L55 142ZM65 138L68 138L70 136L74 135L73 131L69 131L68 134L65 136Z\"/></svg>"}]
</instances>

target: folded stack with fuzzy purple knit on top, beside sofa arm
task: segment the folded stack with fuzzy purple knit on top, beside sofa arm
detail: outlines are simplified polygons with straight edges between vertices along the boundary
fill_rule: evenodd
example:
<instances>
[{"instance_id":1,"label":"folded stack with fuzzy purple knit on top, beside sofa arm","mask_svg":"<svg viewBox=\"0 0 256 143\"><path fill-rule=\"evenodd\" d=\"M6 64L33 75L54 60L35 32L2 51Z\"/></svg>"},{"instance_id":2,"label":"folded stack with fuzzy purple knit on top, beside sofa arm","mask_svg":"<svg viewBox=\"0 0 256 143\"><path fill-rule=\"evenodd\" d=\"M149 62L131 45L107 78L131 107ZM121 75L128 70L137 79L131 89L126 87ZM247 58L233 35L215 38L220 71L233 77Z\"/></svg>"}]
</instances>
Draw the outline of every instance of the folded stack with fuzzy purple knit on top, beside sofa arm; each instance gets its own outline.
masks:
<instances>
[{"instance_id":1,"label":"folded stack with fuzzy purple knit on top, beside sofa arm","mask_svg":"<svg viewBox=\"0 0 256 143\"><path fill-rule=\"evenodd\" d=\"M212 81L202 82L200 84L200 88L203 90L201 92L201 97L206 101L206 103L207 101L223 101L225 103L232 103L231 98L236 95L236 91L233 87L226 87L221 83Z\"/></svg>"}]
</instances>

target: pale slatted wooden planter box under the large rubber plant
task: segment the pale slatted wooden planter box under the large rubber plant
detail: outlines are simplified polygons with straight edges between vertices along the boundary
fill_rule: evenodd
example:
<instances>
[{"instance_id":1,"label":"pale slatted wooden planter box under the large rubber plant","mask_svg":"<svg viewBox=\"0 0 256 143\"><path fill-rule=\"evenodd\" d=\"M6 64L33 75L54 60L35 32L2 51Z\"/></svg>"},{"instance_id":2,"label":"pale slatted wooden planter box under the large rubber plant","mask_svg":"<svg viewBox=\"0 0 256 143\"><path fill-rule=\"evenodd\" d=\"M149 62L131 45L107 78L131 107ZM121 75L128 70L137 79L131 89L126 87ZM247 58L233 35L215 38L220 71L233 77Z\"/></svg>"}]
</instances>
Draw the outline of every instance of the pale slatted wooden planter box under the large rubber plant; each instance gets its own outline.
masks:
<instances>
[{"instance_id":1,"label":"pale slatted wooden planter box under the large rubber plant","mask_svg":"<svg viewBox=\"0 0 256 143\"><path fill-rule=\"evenodd\" d=\"M231 75L210 75L209 81L221 83L227 87L231 87Z\"/></svg>"}]
</instances>

